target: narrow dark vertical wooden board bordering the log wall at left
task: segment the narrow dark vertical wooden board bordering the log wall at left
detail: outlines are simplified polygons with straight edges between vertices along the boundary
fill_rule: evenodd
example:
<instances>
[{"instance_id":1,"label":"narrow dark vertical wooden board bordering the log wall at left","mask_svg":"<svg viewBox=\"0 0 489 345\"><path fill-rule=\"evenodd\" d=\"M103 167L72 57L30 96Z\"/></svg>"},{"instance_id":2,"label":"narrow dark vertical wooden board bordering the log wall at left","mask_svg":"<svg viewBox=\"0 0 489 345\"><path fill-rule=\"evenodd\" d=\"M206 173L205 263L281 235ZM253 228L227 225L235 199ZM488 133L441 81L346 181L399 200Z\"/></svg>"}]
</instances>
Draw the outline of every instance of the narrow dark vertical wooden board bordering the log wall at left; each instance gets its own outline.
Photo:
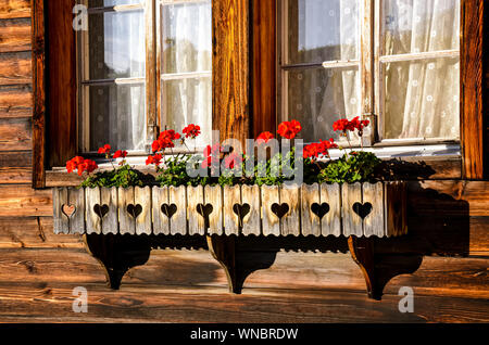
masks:
<instances>
[{"instance_id":1,"label":"narrow dark vertical wooden board bordering the log wall at left","mask_svg":"<svg viewBox=\"0 0 489 345\"><path fill-rule=\"evenodd\" d=\"M43 0L32 0L33 188L46 184L46 39Z\"/></svg>"}]
</instances>

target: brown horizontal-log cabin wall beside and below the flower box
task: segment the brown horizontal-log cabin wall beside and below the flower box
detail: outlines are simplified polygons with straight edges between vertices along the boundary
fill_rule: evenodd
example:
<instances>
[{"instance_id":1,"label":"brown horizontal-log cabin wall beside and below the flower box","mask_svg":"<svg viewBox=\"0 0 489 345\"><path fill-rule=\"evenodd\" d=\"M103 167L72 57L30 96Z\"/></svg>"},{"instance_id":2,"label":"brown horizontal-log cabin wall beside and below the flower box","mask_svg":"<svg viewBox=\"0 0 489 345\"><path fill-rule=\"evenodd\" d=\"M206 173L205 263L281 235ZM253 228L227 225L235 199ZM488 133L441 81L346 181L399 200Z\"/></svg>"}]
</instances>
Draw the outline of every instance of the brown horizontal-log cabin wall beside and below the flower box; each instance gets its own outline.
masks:
<instances>
[{"instance_id":1,"label":"brown horizontal-log cabin wall beside and below the flower box","mask_svg":"<svg viewBox=\"0 0 489 345\"><path fill-rule=\"evenodd\" d=\"M32 189L30 10L29 0L0 1L0 322L489 321L489 183L456 173L410 183L415 237L408 242L419 241L426 255L414 274L387 285L380 303L366 298L342 245L314 253L277 243L272 267L254 272L238 296L208 251L154 251L121 291L109 291L80 238L52 233L51 190ZM79 285L89 292L87 315L72 311ZM414 290L413 314L398 310L401 286Z\"/></svg>"}]
</instances>

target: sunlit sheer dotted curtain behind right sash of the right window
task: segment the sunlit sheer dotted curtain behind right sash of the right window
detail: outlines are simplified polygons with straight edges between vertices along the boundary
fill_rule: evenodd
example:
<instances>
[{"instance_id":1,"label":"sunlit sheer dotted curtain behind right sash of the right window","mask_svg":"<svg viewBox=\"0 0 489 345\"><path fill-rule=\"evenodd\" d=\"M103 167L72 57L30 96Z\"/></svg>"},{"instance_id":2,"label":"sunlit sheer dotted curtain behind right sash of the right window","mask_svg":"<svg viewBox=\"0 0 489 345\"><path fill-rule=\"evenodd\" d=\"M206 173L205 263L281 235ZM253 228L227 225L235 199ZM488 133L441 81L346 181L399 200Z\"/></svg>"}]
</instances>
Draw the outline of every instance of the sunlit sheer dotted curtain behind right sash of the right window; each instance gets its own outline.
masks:
<instances>
[{"instance_id":1,"label":"sunlit sheer dotted curtain behind right sash of the right window","mask_svg":"<svg viewBox=\"0 0 489 345\"><path fill-rule=\"evenodd\" d=\"M384 2L384 54L460 49L460 0ZM385 64L385 137L457 138L459 56Z\"/></svg>"}]
</instances>

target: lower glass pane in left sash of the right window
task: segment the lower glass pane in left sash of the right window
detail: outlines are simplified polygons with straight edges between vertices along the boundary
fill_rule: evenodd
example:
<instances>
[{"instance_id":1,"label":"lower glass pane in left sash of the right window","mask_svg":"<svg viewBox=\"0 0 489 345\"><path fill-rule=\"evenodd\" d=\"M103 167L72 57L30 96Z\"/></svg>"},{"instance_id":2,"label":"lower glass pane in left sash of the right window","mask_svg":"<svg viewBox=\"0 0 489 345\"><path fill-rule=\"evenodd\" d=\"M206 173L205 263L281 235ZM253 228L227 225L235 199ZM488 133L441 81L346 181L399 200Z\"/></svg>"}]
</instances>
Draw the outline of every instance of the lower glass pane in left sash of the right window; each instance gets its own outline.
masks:
<instances>
[{"instance_id":1,"label":"lower glass pane in left sash of the right window","mask_svg":"<svg viewBox=\"0 0 489 345\"><path fill-rule=\"evenodd\" d=\"M299 138L314 142L335 138L333 123L360 115L358 67L287 72L288 119L302 124Z\"/></svg>"}]
</instances>

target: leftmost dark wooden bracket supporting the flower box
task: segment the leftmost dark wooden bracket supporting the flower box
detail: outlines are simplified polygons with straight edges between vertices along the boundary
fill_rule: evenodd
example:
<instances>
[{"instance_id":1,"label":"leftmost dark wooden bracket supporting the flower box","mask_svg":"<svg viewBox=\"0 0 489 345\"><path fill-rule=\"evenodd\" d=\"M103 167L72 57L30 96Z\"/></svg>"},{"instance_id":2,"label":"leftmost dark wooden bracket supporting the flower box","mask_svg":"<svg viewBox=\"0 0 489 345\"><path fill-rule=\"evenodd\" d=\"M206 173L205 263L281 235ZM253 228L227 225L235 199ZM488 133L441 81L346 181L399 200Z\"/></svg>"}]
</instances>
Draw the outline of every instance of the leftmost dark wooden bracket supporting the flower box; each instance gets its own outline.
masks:
<instances>
[{"instance_id":1,"label":"leftmost dark wooden bracket supporting the flower box","mask_svg":"<svg viewBox=\"0 0 489 345\"><path fill-rule=\"evenodd\" d=\"M145 265L151 253L150 241L138 235L85 234L87 251L105 269L108 285L121 288L124 274L135 266Z\"/></svg>"}]
</instances>

